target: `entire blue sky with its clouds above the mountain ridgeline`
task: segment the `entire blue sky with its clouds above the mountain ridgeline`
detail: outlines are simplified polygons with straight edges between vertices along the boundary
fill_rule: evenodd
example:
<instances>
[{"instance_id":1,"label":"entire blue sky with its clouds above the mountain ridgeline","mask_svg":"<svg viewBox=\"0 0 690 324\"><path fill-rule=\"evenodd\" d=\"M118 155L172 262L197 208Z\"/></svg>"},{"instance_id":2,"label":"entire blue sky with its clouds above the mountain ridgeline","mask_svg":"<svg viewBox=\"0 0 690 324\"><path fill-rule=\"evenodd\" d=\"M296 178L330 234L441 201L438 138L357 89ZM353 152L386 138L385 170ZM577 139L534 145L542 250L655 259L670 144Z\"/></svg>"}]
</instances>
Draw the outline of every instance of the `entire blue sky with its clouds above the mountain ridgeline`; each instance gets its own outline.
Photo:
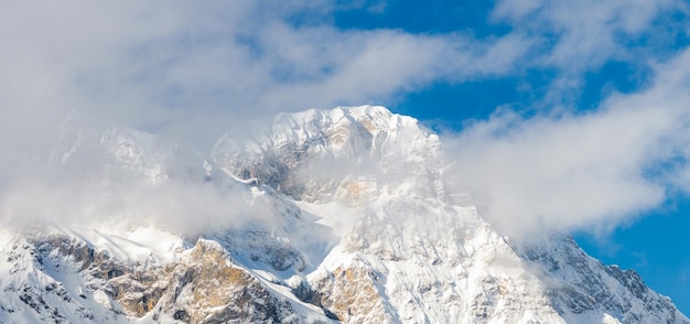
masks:
<instances>
[{"instance_id":1,"label":"entire blue sky with its clouds above the mountain ridgeline","mask_svg":"<svg viewBox=\"0 0 690 324\"><path fill-rule=\"evenodd\" d=\"M0 4L13 145L68 110L209 148L278 111L382 105L445 138L497 228L570 230L690 313L686 1L74 3Z\"/></svg>"}]
</instances>

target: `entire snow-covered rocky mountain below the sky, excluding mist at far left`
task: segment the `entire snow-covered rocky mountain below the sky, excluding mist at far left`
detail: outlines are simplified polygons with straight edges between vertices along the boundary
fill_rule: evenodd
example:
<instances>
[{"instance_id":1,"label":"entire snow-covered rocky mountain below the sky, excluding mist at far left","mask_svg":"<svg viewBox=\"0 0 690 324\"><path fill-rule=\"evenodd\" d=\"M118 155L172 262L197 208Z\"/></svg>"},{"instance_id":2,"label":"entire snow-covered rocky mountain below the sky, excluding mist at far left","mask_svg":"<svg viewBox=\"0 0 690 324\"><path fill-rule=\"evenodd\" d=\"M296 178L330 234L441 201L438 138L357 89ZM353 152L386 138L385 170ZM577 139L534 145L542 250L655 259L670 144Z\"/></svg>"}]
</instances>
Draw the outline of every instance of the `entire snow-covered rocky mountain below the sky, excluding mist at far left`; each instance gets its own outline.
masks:
<instances>
[{"instance_id":1,"label":"entire snow-covered rocky mountain below the sky, excluding mist at far left","mask_svg":"<svg viewBox=\"0 0 690 324\"><path fill-rule=\"evenodd\" d=\"M382 107L279 115L225 134L207 161L75 118L47 161L100 152L145 197L182 203L3 231L0 322L690 323L568 235L498 235L440 139Z\"/></svg>"}]
</instances>

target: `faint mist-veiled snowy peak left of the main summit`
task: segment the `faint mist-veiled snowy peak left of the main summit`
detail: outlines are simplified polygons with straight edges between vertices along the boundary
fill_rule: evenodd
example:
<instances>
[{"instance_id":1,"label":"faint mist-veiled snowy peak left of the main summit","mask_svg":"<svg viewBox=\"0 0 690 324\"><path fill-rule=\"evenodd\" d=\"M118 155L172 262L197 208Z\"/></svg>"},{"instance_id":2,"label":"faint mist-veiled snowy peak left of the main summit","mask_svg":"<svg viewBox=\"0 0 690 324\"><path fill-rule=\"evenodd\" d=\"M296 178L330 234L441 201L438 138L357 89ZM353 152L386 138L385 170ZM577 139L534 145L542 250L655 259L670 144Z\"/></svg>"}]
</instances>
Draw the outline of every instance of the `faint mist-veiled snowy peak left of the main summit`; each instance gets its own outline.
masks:
<instances>
[{"instance_id":1,"label":"faint mist-veiled snowy peak left of the main summit","mask_svg":"<svg viewBox=\"0 0 690 324\"><path fill-rule=\"evenodd\" d=\"M25 154L10 163L26 169L50 169L55 174L104 176L104 172L126 172L143 176L152 184L201 169L198 154L190 148L158 134L138 131L71 111L40 140L30 143ZM55 169L55 170L53 170Z\"/></svg>"}]
</instances>

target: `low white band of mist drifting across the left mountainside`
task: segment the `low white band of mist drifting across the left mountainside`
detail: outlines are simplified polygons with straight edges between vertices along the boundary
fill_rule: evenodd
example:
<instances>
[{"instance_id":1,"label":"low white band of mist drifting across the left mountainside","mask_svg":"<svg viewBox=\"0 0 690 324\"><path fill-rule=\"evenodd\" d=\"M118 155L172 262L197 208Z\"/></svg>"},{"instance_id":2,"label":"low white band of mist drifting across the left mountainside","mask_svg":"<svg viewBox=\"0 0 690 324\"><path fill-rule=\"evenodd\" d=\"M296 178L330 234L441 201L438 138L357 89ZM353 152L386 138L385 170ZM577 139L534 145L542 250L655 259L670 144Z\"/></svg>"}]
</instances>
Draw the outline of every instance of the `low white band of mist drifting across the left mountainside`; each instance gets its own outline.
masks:
<instances>
[{"instance_id":1,"label":"low white band of mist drifting across the left mountainside","mask_svg":"<svg viewBox=\"0 0 690 324\"><path fill-rule=\"evenodd\" d=\"M274 210L242 187L180 180L151 184L120 173L107 181L22 176L2 183L0 224L35 227L150 224L194 238L261 223ZM261 199L259 197L258 199Z\"/></svg>"}]
</instances>

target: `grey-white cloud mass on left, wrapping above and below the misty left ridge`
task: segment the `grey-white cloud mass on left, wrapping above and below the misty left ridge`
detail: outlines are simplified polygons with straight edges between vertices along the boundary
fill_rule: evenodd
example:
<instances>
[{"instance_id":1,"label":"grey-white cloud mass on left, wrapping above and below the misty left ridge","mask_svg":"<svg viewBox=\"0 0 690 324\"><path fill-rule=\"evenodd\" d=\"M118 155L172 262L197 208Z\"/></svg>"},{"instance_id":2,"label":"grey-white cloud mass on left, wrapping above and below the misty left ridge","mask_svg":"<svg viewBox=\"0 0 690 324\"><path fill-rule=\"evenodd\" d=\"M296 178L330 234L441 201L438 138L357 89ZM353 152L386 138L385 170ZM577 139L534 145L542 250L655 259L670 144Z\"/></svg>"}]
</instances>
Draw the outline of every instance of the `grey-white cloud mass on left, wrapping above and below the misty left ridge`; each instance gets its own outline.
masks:
<instances>
[{"instance_id":1,"label":"grey-white cloud mass on left, wrapping above and below the misty left ridge","mask_svg":"<svg viewBox=\"0 0 690 324\"><path fill-rule=\"evenodd\" d=\"M240 202L246 193L185 179L137 180L101 151L103 125L164 134L205 152L227 129L278 111L503 75L529 45L518 35L478 41L341 30L332 24L334 10L330 1L3 2L0 219L233 226L261 214ZM71 130L75 114L98 126Z\"/></svg>"}]
</instances>

